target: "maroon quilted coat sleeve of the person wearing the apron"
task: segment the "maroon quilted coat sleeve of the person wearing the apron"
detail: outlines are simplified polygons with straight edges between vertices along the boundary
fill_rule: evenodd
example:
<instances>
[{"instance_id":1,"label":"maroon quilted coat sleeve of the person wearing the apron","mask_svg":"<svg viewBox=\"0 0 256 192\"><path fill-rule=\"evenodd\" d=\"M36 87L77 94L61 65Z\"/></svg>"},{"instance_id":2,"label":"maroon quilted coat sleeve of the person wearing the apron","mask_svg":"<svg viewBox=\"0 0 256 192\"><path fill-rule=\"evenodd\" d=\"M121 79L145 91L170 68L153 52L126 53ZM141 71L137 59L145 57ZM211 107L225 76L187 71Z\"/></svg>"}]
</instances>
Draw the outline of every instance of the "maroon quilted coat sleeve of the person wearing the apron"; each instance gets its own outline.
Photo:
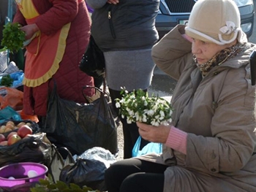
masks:
<instances>
[{"instance_id":1,"label":"maroon quilted coat sleeve of the person wearing the apron","mask_svg":"<svg viewBox=\"0 0 256 192\"><path fill-rule=\"evenodd\" d=\"M53 4L47 12L36 20L42 33L50 35L71 22L78 14L78 0L50 0Z\"/></svg>"}]
</instances>

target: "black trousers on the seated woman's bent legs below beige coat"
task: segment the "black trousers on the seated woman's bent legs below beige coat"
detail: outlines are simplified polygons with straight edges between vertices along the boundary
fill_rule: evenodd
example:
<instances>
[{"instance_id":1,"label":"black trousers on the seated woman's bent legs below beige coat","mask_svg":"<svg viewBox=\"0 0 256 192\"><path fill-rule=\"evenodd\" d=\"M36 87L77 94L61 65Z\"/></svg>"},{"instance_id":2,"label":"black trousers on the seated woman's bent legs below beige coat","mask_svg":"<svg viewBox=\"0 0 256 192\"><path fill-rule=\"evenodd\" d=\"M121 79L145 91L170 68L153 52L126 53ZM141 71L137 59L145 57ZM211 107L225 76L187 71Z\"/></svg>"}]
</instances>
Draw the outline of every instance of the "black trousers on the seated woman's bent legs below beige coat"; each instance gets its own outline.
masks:
<instances>
[{"instance_id":1,"label":"black trousers on the seated woman's bent legs below beige coat","mask_svg":"<svg viewBox=\"0 0 256 192\"><path fill-rule=\"evenodd\" d=\"M137 158L124 159L105 171L108 192L162 192L167 166Z\"/></svg>"}]
</instances>

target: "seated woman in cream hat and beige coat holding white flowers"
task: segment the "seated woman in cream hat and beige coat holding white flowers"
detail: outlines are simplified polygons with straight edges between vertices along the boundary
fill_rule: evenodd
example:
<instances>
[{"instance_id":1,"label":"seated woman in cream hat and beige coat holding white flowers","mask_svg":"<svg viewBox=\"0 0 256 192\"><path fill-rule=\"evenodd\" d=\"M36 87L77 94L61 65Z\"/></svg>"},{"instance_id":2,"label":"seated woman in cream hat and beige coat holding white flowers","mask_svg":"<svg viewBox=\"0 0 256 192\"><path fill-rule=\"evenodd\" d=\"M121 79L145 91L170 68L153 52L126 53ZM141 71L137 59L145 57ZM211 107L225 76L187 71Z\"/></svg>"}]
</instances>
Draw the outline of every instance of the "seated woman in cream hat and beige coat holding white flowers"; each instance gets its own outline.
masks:
<instances>
[{"instance_id":1,"label":"seated woman in cream hat and beige coat holding white flowers","mask_svg":"<svg viewBox=\"0 0 256 192\"><path fill-rule=\"evenodd\" d=\"M218 11L217 11L218 10ZM157 66L178 80L169 126L137 123L162 154L118 161L105 171L108 192L256 191L256 101L249 58L231 0L199 0L188 26L153 47Z\"/></svg>"}]
</instances>

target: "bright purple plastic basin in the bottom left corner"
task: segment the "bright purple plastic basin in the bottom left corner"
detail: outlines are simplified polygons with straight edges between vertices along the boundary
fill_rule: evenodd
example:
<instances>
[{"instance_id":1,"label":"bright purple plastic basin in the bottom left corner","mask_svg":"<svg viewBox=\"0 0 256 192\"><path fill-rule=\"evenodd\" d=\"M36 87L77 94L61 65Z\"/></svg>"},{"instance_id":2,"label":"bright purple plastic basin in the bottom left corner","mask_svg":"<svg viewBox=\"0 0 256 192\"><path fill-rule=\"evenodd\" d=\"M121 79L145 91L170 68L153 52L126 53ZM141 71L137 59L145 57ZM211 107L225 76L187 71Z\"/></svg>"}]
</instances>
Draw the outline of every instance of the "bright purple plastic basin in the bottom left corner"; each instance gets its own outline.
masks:
<instances>
[{"instance_id":1,"label":"bright purple plastic basin in the bottom left corner","mask_svg":"<svg viewBox=\"0 0 256 192\"><path fill-rule=\"evenodd\" d=\"M34 170L37 176L28 177L28 172ZM0 187L12 187L23 183L37 182L40 178L45 179L48 167L37 163L10 164L0 168ZM9 179L14 177L15 179Z\"/></svg>"}]
</instances>

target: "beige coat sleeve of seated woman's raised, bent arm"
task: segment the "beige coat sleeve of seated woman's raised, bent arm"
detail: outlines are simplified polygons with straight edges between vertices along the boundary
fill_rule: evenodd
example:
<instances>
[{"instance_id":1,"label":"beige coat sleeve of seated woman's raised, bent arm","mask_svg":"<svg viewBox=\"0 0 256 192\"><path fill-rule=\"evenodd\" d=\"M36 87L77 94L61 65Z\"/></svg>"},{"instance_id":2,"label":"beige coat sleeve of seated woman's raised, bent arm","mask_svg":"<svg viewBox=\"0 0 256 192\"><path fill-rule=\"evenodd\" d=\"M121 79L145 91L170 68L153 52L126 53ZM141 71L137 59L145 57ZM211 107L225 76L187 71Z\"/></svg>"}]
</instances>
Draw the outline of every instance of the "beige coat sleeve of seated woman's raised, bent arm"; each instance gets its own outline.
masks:
<instances>
[{"instance_id":1,"label":"beige coat sleeve of seated woman's raised, bent arm","mask_svg":"<svg viewBox=\"0 0 256 192\"><path fill-rule=\"evenodd\" d=\"M173 79L178 80L185 66L192 62L191 42L181 36L183 25L178 25L152 48L155 64Z\"/></svg>"}]
</instances>

